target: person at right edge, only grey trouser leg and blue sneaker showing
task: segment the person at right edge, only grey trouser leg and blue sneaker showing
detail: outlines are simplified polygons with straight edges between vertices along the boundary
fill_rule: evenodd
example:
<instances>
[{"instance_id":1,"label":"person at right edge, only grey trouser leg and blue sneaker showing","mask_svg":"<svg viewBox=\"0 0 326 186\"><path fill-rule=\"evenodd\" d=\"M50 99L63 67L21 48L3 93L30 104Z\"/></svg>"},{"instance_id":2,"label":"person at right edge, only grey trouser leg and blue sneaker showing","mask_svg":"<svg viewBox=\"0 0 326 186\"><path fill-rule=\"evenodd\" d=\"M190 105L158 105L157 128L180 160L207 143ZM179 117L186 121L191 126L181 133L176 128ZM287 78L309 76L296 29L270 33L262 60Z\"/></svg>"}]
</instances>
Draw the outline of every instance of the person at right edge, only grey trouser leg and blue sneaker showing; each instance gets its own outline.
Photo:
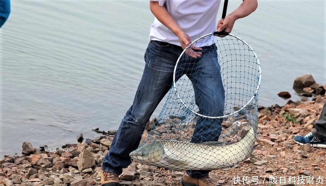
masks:
<instances>
[{"instance_id":1,"label":"person at right edge, only grey trouser leg and blue sneaker showing","mask_svg":"<svg viewBox=\"0 0 326 186\"><path fill-rule=\"evenodd\" d=\"M326 102L314 127L315 129L305 136L295 136L295 143L299 145L310 143L312 147L326 148Z\"/></svg>"}]
</instances>

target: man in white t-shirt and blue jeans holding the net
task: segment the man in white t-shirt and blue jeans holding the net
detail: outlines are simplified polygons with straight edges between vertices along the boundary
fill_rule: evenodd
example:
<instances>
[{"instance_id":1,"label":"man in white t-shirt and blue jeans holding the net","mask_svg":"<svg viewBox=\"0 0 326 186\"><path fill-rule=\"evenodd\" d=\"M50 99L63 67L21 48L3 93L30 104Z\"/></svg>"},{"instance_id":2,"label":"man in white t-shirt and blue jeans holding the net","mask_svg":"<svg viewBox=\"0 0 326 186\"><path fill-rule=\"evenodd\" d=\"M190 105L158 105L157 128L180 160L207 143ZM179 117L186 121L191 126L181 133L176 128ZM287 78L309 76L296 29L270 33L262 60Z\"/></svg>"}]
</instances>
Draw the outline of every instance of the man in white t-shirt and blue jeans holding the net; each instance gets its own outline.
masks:
<instances>
[{"instance_id":1,"label":"man in white t-shirt and blue jeans holding the net","mask_svg":"<svg viewBox=\"0 0 326 186\"><path fill-rule=\"evenodd\" d=\"M132 106L122 119L114 136L110 151L103 159L101 185L118 186L122 167L131 163L129 153L135 150L156 106L170 90L173 70L182 51L195 39L213 31L231 32L234 22L256 10L257 0L244 0L243 3L216 26L216 16L221 0L150 0L150 9L156 17L150 28L150 43L145 52L145 69L137 89ZM195 61L200 77L192 76L190 80L200 82L195 86L196 104L202 111L204 100L211 100L208 115L221 115L224 109L224 87L220 75L220 66L216 55L215 44L191 46L186 54ZM186 69L185 69L186 70ZM182 74L180 74L182 75ZM181 77L181 76L180 76ZM206 82L203 83L203 82ZM208 83L209 82L209 83ZM209 86L207 86L209 84ZM214 92L208 94L207 92ZM199 93L203 93L200 94ZM208 119L198 119L193 143L214 141L216 136L199 139L194 136L205 136ZM219 134L217 134L218 138ZM194 139L199 139L195 141ZM215 139L215 141L217 141ZM186 171L182 184L184 186L217 186L209 177L207 170Z\"/></svg>"}]
</instances>

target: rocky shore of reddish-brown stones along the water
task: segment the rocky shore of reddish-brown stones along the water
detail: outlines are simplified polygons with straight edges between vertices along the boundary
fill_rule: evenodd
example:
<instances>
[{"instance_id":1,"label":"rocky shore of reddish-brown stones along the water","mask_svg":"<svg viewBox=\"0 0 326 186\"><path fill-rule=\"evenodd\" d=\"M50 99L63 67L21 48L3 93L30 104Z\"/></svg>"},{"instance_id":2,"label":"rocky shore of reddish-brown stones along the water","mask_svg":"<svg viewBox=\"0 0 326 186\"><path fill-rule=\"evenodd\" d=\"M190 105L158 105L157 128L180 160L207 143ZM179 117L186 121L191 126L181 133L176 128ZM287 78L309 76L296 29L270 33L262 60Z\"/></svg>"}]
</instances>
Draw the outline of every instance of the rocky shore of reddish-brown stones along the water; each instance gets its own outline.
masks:
<instances>
[{"instance_id":1,"label":"rocky shore of reddish-brown stones along the water","mask_svg":"<svg viewBox=\"0 0 326 186\"><path fill-rule=\"evenodd\" d=\"M312 130L326 100L325 92L321 93L311 100L289 100L284 106L260 106L258 139L252 155L234 167L213 170L210 176L223 186L326 185L325 149L293 141L295 135ZM79 136L76 144L62 149L36 148L24 142L22 155L0 159L0 186L99 185L100 166L113 139L113 133L104 133L93 140ZM182 175L183 171L132 162L120 179L121 185L179 186Z\"/></svg>"}]
</instances>

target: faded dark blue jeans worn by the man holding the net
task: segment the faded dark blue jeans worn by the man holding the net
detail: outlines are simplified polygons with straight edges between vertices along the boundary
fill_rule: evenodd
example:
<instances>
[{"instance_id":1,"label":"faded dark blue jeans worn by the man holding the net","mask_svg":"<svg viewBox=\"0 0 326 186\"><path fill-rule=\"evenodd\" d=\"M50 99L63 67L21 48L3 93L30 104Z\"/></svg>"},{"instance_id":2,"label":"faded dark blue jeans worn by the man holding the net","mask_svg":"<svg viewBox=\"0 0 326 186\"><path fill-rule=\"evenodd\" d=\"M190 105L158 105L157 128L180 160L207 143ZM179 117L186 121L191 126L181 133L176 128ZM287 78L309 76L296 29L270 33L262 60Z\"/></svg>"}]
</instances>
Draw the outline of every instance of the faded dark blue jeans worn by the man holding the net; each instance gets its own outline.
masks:
<instances>
[{"instance_id":1,"label":"faded dark blue jeans worn by the man holding the net","mask_svg":"<svg viewBox=\"0 0 326 186\"><path fill-rule=\"evenodd\" d=\"M207 49L206 49L207 48ZM180 46L160 41L150 41L145 52L145 68L139 83L132 106L126 112L122 119L119 129L115 134L111 148L103 159L102 169L117 175L122 173L122 168L130 165L132 159L129 154L137 149L141 135L147 122L156 109L157 105L170 90L173 81L173 70L177 59L183 49ZM187 74L193 82L196 104L204 115L223 114L224 109L224 88L220 75L220 66L218 64L216 46L203 47L200 58L192 58L185 64L179 66L180 73L177 79L183 74ZM191 74L187 67L191 65L200 73ZM194 67L195 66L195 67ZM201 109L204 103L211 104L209 109ZM205 108L207 105L205 105ZM209 113L207 110L211 110ZM216 135L207 135L212 133L212 120L207 118L198 118L195 127L192 142L200 143L204 141L217 141L219 132ZM215 121L216 122L216 121ZM208 127L207 127L208 126ZM212 129L211 129L212 130ZM216 126L214 127L216 131ZM216 132L215 132L216 133ZM211 137L209 137L211 136ZM208 175L209 171L188 171L192 177L202 178Z\"/></svg>"}]
</instances>

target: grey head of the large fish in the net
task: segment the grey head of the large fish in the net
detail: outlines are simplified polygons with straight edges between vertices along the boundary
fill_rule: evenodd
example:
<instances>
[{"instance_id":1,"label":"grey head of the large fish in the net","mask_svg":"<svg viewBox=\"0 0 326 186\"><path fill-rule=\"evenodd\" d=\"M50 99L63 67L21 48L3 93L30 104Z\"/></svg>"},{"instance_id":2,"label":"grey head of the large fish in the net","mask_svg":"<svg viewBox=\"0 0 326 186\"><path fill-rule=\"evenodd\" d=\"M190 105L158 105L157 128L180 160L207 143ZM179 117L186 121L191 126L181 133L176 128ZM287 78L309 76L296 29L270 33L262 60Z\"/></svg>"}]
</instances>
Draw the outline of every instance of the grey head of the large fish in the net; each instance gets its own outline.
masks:
<instances>
[{"instance_id":1,"label":"grey head of the large fish in the net","mask_svg":"<svg viewBox=\"0 0 326 186\"><path fill-rule=\"evenodd\" d=\"M162 160L164 157L164 150L159 143L151 142L134 150L129 156L142 163L152 163Z\"/></svg>"}]
</instances>

